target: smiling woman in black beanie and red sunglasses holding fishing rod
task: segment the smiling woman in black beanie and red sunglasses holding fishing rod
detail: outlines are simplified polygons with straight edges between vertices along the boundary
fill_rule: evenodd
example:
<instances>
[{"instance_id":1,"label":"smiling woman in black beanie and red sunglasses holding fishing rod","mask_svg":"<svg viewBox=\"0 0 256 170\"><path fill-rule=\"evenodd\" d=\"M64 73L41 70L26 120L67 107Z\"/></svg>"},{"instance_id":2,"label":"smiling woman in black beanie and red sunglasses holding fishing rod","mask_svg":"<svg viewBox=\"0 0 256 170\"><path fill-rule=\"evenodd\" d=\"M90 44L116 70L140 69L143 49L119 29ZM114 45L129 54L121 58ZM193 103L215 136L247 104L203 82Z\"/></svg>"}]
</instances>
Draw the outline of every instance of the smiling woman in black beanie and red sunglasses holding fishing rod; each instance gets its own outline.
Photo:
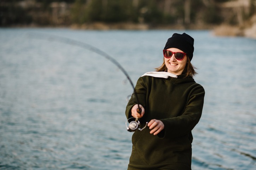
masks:
<instances>
[{"instance_id":1,"label":"smiling woman in black beanie and red sunglasses holding fishing rod","mask_svg":"<svg viewBox=\"0 0 256 170\"><path fill-rule=\"evenodd\" d=\"M192 78L190 63L194 39L186 33L174 33L163 53L163 65L156 72L142 75L135 87L136 97L126 107L127 118L138 118L141 126L132 136L132 154L128 170L190 170L192 129L203 109L204 88ZM134 94L133 94L134 95Z\"/></svg>"}]
</instances>

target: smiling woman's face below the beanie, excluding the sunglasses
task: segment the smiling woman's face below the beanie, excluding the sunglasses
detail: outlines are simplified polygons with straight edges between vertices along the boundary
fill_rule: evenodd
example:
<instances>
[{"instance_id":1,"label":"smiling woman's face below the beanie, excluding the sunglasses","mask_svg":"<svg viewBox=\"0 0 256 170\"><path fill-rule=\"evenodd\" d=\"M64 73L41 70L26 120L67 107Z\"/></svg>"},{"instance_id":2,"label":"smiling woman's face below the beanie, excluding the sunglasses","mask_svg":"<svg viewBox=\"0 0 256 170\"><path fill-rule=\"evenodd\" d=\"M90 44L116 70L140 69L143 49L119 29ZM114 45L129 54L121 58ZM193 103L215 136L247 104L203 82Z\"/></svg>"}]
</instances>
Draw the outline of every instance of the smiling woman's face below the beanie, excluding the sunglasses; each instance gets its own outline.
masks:
<instances>
[{"instance_id":1,"label":"smiling woman's face below the beanie, excluding the sunglasses","mask_svg":"<svg viewBox=\"0 0 256 170\"><path fill-rule=\"evenodd\" d=\"M176 48L169 48L167 50L170 50L173 52L184 52ZM177 60L174 54L171 56L171 58L164 57L164 63L165 63L165 66L167 67L168 73L181 75L182 71L185 69L187 64L187 55L185 55L185 57L181 61Z\"/></svg>"}]
</instances>

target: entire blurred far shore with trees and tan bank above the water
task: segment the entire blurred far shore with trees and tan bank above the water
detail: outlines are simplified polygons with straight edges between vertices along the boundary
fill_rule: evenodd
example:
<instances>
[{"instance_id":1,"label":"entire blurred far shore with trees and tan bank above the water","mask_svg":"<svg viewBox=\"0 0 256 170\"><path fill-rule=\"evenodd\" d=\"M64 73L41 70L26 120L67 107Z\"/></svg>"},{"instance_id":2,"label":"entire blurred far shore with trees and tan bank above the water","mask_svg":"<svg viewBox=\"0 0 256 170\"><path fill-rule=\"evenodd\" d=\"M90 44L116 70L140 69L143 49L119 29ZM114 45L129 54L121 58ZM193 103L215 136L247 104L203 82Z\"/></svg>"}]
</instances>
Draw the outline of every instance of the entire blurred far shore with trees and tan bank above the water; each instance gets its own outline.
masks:
<instances>
[{"instance_id":1,"label":"entire blurred far shore with trees and tan bank above the water","mask_svg":"<svg viewBox=\"0 0 256 170\"><path fill-rule=\"evenodd\" d=\"M0 2L0 11L0 27L211 30L256 39L256 0L17 0Z\"/></svg>"}]
</instances>

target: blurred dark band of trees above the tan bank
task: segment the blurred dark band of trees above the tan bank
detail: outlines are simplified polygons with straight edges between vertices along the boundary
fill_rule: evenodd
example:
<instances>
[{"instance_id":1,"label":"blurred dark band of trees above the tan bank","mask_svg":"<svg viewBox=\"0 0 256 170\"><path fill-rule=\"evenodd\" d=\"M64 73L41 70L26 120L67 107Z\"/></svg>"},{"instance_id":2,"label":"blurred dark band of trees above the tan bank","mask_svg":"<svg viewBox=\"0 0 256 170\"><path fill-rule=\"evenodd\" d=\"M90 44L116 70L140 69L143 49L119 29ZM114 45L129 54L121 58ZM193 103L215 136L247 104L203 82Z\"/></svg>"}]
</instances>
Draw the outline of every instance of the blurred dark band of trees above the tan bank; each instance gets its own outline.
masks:
<instances>
[{"instance_id":1,"label":"blurred dark band of trees above the tan bank","mask_svg":"<svg viewBox=\"0 0 256 170\"><path fill-rule=\"evenodd\" d=\"M162 24L238 24L256 12L256 0L1 0L0 24L39 25L92 22ZM53 3L54 2L54 3ZM235 8L235 5L246 8ZM61 4L65 12L58 12ZM30 4L30 5L28 5ZM32 4L32 6L31 6ZM223 8L222 4L233 4ZM33 6L34 5L34 6ZM228 10L227 10L228 9ZM54 12L55 10L55 12ZM57 12L56 12L57 11ZM64 14L65 13L65 14ZM228 15L227 15L228 14ZM239 14L239 15L238 15ZM64 16L65 15L65 16ZM228 17L227 17L228 16ZM52 19L55 17L55 20ZM238 18L239 17L239 18ZM61 21L61 22L60 22ZM241 25L241 24L240 24Z\"/></svg>"}]
</instances>

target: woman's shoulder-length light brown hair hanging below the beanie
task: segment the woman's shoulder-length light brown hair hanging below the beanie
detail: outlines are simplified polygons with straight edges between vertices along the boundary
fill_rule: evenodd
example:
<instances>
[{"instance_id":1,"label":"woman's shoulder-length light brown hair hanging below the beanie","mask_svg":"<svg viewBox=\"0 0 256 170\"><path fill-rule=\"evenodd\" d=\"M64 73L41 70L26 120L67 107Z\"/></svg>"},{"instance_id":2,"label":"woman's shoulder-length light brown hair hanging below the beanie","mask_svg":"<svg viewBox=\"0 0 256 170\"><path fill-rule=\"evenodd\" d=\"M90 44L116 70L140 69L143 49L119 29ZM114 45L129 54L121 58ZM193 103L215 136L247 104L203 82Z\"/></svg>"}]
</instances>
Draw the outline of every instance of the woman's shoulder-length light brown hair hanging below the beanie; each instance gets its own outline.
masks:
<instances>
[{"instance_id":1,"label":"woman's shoulder-length light brown hair hanging below the beanie","mask_svg":"<svg viewBox=\"0 0 256 170\"><path fill-rule=\"evenodd\" d=\"M167 72L167 67L165 65L165 62L163 62L163 64L160 67L155 68L155 69L156 69L156 71ZM182 74L186 75L185 77L193 77L197 74L196 69L197 68L191 64L190 59L187 57L187 64L186 64L186 67L183 70Z\"/></svg>"}]
</instances>

